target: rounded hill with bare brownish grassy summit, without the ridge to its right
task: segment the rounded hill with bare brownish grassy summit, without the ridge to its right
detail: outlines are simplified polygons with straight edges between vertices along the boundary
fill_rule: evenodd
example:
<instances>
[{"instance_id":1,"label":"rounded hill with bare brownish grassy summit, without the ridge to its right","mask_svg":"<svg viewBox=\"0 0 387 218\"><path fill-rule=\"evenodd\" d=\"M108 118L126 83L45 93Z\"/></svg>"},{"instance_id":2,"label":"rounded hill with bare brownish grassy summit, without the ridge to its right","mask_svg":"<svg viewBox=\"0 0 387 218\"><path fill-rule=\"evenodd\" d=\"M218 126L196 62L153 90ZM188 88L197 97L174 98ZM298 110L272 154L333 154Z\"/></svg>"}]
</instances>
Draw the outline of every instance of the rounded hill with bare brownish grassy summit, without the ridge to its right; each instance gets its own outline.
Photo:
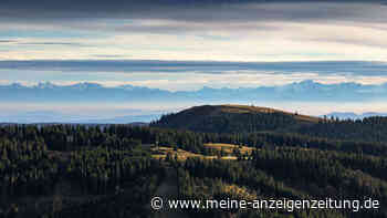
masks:
<instances>
[{"instance_id":1,"label":"rounded hill with bare brownish grassy summit, without the ridge to its right","mask_svg":"<svg viewBox=\"0 0 387 218\"><path fill-rule=\"evenodd\" d=\"M153 126L210 133L289 131L310 126L321 118L279 110L244 105L203 105L164 115Z\"/></svg>"}]
</instances>

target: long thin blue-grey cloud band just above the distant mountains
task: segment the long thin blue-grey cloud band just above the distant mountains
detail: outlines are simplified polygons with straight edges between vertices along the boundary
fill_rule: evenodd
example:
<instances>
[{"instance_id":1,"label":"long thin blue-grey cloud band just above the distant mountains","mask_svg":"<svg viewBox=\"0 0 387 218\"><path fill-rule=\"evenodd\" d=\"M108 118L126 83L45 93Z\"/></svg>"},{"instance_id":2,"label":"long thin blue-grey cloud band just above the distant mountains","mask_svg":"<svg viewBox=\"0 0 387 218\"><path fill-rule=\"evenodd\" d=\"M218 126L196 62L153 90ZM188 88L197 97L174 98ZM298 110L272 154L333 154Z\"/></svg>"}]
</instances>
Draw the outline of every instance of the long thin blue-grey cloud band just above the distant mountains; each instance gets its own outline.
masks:
<instances>
[{"instance_id":1,"label":"long thin blue-grey cloud band just above the distant mountains","mask_svg":"<svg viewBox=\"0 0 387 218\"><path fill-rule=\"evenodd\" d=\"M100 54L102 55L102 54ZM103 55L105 56L105 55ZM108 55L107 55L108 56ZM117 58L117 56L112 56ZM57 69L63 73L72 72L116 72L116 73L175 73L199 72L205 74L255 74L257 72L276 73L318 73L323 75L364 75L386 76L387 62L365 61L320 61L320 62L212 62L212 61L151 61L151 60L84 60L84 61L0 61L0 70L39 70L42 72Z\"/></svg>"}]
</instances>

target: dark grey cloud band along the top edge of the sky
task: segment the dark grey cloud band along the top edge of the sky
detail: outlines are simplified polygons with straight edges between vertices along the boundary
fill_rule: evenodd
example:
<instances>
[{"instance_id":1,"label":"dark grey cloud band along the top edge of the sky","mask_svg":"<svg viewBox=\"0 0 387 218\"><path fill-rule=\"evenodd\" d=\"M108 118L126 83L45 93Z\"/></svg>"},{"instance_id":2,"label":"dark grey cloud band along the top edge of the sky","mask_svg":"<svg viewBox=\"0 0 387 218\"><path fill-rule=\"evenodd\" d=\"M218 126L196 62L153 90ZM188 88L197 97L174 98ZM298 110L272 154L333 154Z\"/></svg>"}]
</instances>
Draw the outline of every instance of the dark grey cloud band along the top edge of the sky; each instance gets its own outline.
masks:
<instances>
[{"instance_id":1,"label":"dark grey cloud band along the top edge of the sky","mask_svg":"<svg viewBox=\"0 0 387 218\"><path fill-rule=\"evenodd\" d=\"M28 22L54 20L80 20L91 18L153 19L197 22L230 21L302 21L302 20L386 20L383 1L137 1L137 0L30 0L2 1L0 18ZM6 19L6 20L4 20ZM28 20L27 20L28 19Z\"/></svg>"}]
</instances>

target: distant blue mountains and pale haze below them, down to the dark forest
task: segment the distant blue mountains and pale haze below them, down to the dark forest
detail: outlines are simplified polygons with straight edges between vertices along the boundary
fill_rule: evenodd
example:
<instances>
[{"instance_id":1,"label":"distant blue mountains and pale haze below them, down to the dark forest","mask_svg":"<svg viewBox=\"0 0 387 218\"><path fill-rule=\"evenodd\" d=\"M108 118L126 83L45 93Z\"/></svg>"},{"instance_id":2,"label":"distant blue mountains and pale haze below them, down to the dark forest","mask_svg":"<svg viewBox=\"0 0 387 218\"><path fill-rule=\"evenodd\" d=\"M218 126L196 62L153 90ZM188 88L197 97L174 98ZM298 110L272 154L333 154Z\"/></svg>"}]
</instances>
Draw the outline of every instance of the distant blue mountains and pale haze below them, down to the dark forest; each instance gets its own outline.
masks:
<instances>
[{"instance_id":1,"label":"distant blue mountains and pale haze below them, down to the dark forest","mask_svg":"<svg viewBox=\"0 0 387 218\"><path fill-rule=\"evenodd\" d=\"M284 85L166 91L98 83L0 85L1 122L130 123L203 104L245 104L306 115L363 118L386 115L387 83L323 84L306 80ZM337 113L338 112L338 113ZM357 113L357 114L355 114Z\"/></svg>"}]
</instances>

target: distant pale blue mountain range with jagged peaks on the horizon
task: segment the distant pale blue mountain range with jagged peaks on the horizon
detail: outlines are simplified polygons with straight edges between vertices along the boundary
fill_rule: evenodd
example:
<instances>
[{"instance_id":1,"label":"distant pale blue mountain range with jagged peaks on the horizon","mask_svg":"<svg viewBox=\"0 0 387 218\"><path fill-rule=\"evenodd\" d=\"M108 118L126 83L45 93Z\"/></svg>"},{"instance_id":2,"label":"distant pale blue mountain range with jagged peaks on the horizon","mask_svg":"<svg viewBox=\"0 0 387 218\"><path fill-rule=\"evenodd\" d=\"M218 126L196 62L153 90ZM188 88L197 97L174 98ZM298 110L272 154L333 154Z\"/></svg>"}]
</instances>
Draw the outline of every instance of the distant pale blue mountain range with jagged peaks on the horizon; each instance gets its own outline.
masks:
<instances>
[{"instance_id":1,"label":"distant pale blue mountain range with jagged peaks on the horizon","mask_svg":"<svg viewBox=\"0 0 387 218\"><path fill-rule=\"evenodd\" d=\"M301 102L358 102L387 100L387 83L323 84L312 80L275 86L202 87L196 91L168 91L135 85L108 87L98 83L56 85L51 82L27 86L20 83L0 85L3 102L122 102L122 101L301 101Z\"/></svg>"}]
</instances>

